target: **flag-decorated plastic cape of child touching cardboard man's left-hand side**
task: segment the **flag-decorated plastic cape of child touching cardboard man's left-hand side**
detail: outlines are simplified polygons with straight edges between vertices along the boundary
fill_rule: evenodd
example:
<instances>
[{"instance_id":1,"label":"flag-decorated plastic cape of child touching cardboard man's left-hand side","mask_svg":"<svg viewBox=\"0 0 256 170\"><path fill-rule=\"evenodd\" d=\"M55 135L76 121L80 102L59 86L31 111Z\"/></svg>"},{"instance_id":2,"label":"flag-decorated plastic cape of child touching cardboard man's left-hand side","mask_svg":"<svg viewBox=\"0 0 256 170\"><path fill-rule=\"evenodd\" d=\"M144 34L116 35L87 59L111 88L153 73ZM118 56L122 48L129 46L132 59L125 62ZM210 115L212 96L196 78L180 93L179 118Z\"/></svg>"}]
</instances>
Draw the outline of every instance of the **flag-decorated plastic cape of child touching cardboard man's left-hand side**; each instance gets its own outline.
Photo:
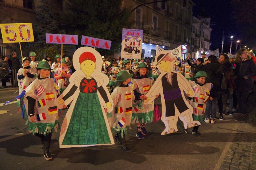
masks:
<instances>
[{"instance_id":1,"label":"flag-decorated plastic cape of child touching cardboard man's left-hand side","mask_svg":"<svg viewBox=\"0 0 256 170\"><path fill-rule=\"evenodd\" d=\"M141 94L146 94L153 85L153 80L149 78L133 79L133 90ZM131 123L150 123L154 118L154 101L145 104L143 100L133 101Z\"/></svg>"}]
</instances>

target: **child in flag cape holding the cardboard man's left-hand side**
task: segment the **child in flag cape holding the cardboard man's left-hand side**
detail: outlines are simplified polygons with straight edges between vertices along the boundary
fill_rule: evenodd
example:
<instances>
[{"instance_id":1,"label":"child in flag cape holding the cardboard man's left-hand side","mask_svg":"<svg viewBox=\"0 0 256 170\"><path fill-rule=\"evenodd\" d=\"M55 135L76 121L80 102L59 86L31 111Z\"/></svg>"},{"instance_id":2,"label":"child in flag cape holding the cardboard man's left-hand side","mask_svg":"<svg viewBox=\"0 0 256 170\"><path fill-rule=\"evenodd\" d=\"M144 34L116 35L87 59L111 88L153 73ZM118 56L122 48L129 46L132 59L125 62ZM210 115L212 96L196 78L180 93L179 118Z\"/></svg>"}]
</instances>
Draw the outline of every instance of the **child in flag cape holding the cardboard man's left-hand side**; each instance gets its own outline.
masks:
<instances>
[{"instance_id":1,"label":"child in flag cape holding the cardboard man's left-hand side","mask_svg":"<svg viewBox=\"0 0 256 170\"><path fill-rule=\"evenodd\" d=\"M149 78L148 66L143 62L140 63L132 79L133 92L136 98L147 99L143 97L152 87L153 81ZM157 96L158 97L158 96ZM154 102L146 105L143 100L133 101L131 123L136 123L138 139L145 139L147 135L146 124L151 123L154 117Z\"/></svg>"}]
</instances>

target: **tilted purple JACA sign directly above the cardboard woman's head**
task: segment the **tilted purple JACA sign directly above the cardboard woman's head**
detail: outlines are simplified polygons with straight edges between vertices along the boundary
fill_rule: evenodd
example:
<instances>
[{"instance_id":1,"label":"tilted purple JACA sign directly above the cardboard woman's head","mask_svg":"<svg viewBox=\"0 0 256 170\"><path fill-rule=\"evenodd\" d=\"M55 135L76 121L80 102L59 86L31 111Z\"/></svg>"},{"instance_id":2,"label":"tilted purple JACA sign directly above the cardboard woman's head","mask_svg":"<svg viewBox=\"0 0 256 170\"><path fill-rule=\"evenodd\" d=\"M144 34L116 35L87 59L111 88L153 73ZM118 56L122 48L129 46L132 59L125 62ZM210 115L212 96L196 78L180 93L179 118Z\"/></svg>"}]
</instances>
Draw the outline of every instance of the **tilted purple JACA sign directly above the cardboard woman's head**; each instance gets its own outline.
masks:
<instances>
[{"instance_id":1,"label":"tilted purple JACA sign directly above the cardboard woman's head","mask_svg":"<svg viewBox=\"0 0 256 170\"><path fill-rule=\"evenodd\" d=\"M110 50L111 41L82 35L81 45Z\"/></svg>"}]
</instances>

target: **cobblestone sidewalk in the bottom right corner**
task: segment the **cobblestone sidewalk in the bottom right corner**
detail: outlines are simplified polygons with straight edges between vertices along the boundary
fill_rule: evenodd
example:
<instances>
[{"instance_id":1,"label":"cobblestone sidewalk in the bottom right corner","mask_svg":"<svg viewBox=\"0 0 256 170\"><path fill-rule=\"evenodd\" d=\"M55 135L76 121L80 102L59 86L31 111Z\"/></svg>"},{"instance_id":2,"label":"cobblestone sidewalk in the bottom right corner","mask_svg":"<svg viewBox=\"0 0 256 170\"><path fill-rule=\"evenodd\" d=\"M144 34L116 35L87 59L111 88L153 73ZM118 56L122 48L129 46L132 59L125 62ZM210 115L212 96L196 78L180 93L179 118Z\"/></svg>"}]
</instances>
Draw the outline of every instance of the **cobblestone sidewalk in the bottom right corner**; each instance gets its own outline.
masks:
<instances>
[{"instance_id":1,"label":"cobblestone sidewalk in the bottom right corner","mask_svg":"<svg viewBox=\"0 0 256 170\"><path fill-rule=\"evenodd\" d=\"M229 140L214 170L256 170L256 128L237 123Z\"/></svg>"}]
</instances>

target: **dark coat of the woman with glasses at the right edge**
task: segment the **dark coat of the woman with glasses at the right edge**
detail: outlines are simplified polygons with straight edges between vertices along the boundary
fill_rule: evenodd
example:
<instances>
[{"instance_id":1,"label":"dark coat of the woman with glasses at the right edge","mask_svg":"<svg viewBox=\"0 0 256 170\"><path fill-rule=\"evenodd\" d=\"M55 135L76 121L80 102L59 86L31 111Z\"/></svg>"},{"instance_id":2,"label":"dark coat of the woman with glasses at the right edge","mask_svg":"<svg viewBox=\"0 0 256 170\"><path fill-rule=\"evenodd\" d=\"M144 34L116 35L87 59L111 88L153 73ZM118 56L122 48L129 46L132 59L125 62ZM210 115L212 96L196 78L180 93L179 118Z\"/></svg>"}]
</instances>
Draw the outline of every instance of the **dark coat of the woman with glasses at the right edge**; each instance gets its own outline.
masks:
<instances>
[{"instance_id":1,"label":"dark coat of the woman with glasses at the right edge","mask_svg":"<svg viewBox=\"0 0 256 170\"><path fill-rule=\"evenodd\" d=\"M256 76L256 67L252 60L235 63L234 71L236 90L239 92L252 90L252 77ZM247 77L245 77L247 76ZM248 78L248 79L247 79Z\"/></svg>"}]
</instances>

